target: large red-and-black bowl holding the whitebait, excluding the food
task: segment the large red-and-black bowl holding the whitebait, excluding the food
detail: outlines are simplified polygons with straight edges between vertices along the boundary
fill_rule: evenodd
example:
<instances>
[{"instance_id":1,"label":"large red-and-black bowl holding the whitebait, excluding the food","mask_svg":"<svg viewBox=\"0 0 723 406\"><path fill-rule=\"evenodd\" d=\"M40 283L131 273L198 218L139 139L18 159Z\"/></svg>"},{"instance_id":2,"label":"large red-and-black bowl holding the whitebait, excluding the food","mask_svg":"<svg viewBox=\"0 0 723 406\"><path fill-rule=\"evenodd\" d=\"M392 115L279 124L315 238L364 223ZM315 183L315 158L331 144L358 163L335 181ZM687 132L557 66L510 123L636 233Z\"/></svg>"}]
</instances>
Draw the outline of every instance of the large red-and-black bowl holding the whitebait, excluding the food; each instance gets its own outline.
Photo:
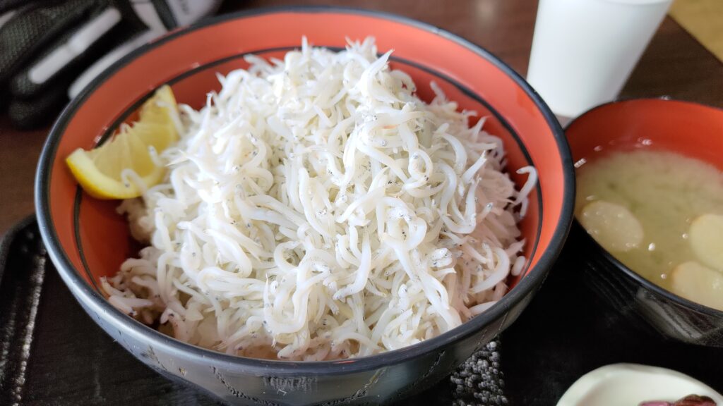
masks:
<instances>
[{"instance_id":1,"label":"large red-and-black bowl holding the whitebait, excluding the food","mask_svg":"<svg viewBox=\"0 0 723 406\"><path fill-rule=\"evenodd\" d=\"M539 185L523 223L521 277L495 306L450 332L379 355L325 362L241 358L194 347L111 306L98 289L139 248L119 202L87 196L64 159L107 138L163 84L180 103L200 108L219 90L216 74L246 67L244 55L282 58L301 44L341 49L345 38L375 36L391 66L414 78L430 100L434 80L460 109L488 116L487 131L508 150L508 170L534 165ZM539 289L562 248L573 213L573 165L562 129L547 105L509 66L484 49L421 22L335 8L262 9L230 14L171 33L119 61L67 107L48 137L38 167L36 205L43 241L77 301L135 357L171 379L239 405L379 404L427 389L508 327ZM61 317L62 315L57 315ZM98 360L103 362L103 360ZM129 388L131 389L131 388Z\"/></svg>"}]
</instances>

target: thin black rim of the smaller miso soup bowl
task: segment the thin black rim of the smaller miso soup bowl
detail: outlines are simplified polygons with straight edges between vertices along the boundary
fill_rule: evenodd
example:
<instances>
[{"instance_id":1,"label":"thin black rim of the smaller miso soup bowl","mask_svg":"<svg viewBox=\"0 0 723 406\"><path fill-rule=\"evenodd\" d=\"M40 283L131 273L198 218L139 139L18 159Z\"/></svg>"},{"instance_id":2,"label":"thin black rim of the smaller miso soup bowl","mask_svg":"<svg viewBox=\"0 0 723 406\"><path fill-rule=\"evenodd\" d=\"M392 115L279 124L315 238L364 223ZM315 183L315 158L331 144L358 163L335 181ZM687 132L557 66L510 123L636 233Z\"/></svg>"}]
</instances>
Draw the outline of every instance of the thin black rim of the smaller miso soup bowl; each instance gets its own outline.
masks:
<instances>
[{"instance_id":1,"label":"thin black rim of the smaller miso soup bowl","mask_svg":"<svg viewBox=\"0 0 723 406\"><path fill-rule=\"evenodd\" d=\"M723 112L723 108L715 107L713 105L706 105L703 103L697 103L697 102L691 102L688 100L678 100L675 98L671 98L669 96L661 96L659 98L618 98L616 100L609 101L607 103L603 103L601 105L596 105L593 108L590 108L588 111L585 111L580 116L577 116L576 118L573 118L573 120L570 120L568 125L565 126L565 138L568 137L568 130L570 129L573 124L576 124L577 121L580 121L585 118L589 114L594 114L597 110L601 108L610 108L612 105L622 105L622 104L630 104L630 103L645 103L650 101L658 101L658 102L669 102L669 103L683 103L686 105L695 106L696 108L709 108L712 110L718 110ZM717 319L723 320L723 311L720 311L716 308L708 307L705 305L702 305L701 303L697 303L694 301L690 301L686 298L683 298L683 296L676 295L675 293L672 293L671 291L661 288L660 286L654 284L650 280L647 280L642 275L638 274L638 272L633 271L633 269L630 269L627 265L623 264L623 262L620 262L615 256L610 254L606 249L604 249L597 241L595 241L595 238L592 238L583 225L578 222L577 218L573 215L573 224L575 228L579 228L579 230L582 231L584 236L581 238L586 238L586 240L592 244L594 244L594 247L598 249L605 259L607 259L608 262L615 265L617 269L620 269L623 271L623 274L627 275L634 281L638 282L638 284L643 285L643 288L646 288L647 290L651 290L652 292L656 293L657 295L662 296L663 298L666 298L669 301L672 301L673 303L677 304L678 306L682 306L684 308L690 308L690 310L696 311L701 314L706 314L707 316L713 316Z\"/></svg>"}]
</instances>

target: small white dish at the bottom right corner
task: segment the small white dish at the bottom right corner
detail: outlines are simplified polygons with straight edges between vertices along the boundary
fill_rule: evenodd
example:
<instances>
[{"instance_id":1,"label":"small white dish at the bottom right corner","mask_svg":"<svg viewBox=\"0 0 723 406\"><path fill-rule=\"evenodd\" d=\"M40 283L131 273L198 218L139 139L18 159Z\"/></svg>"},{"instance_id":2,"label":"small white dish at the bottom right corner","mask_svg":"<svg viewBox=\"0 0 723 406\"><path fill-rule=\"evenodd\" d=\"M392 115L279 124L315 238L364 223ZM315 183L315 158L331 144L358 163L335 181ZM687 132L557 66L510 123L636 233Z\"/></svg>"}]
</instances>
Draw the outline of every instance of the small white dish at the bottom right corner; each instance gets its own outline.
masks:
<instances>
[{"instance_id":1,"label":"small white dish at the bottom right corner","mask_svg":"<svg viewBox=\"0 0 723 406\"><path fill-rule=\"evenodd\" d=\"M655 366L617 363L581 376L557 406L638 406L641 402L675 402L689 394L707 396L723 406L723 396L692 377Z\"/></svg>"}]
</instances>

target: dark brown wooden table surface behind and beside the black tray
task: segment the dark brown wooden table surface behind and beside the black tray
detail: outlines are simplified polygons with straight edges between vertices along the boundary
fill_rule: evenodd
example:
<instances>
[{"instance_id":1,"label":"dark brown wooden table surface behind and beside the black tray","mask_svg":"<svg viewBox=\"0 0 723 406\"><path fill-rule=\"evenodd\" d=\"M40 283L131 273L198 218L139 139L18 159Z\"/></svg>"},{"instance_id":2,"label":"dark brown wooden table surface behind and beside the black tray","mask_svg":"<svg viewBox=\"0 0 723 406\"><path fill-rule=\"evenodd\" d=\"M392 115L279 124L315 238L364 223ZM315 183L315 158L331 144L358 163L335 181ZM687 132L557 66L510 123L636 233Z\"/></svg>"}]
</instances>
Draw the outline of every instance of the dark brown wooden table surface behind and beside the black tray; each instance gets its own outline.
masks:
<instances>
[{"instance_id":1,"label":"dark brown wooden table surface behind and beside the black tray","mask_svg":"<svg viewBox=\"0 0 723 406\"><path fill-rule=\"evenodd\" d=\"M226 1L221 12L299 4L294 0ZM534 0L311 0L363 7L429 22L487 48L526 74L534 29ZM621 97L667 95L723 108L723 64L666 18ZM49 127L17 131L0 116L0 234L33 213L35 165Z\"/></svg>"}]
</instances>

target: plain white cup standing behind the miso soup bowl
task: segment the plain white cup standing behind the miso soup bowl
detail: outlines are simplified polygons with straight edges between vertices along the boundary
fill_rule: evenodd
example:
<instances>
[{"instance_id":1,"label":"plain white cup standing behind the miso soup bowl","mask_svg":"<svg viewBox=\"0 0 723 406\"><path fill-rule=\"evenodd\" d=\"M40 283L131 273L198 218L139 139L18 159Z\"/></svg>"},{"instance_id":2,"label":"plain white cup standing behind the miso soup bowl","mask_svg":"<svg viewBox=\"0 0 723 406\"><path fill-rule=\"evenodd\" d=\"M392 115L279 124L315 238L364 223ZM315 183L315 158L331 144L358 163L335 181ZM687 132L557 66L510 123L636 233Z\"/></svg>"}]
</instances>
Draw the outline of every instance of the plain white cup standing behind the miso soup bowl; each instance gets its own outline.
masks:
<instances>
[{"instance_id":1,"label":"plain white cup standing behind the miso soup bowl","mask_svg":"<svg viewBox=\"0 0 723 406\"><path fill-rule=\"evenodd\" d=\"M527 81L558 116L613 100L672 0L540 0Z\"/></svg>"}]
</instances>

